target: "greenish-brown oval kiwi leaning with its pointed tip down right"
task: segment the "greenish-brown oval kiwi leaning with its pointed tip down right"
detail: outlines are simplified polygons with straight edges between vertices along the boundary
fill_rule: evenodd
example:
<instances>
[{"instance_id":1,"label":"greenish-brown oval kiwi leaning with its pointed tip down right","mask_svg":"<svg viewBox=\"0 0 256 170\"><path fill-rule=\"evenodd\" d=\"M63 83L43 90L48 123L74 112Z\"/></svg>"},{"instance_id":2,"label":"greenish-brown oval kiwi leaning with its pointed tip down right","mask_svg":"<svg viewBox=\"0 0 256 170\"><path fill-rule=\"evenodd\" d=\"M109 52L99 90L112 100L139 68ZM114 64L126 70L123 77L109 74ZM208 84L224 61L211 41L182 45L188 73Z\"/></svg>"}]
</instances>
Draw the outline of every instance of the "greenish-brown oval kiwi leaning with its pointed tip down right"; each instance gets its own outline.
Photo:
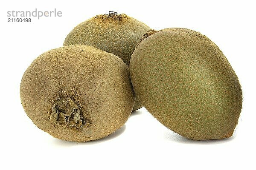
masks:
<instances>
[{"instance_id":1,"label":"greenish-brown oval kiwi leaning with its pointed tip down right","mask_svg":"<svg viewBox=\"0 0 256 170\"><path fill-rule=\"evenodd\" d=\"M214 42L186 28L149 30L131 56L135 94L163 125L189 139L232 136L242 91Z\"/></svg>"}]
</instances>

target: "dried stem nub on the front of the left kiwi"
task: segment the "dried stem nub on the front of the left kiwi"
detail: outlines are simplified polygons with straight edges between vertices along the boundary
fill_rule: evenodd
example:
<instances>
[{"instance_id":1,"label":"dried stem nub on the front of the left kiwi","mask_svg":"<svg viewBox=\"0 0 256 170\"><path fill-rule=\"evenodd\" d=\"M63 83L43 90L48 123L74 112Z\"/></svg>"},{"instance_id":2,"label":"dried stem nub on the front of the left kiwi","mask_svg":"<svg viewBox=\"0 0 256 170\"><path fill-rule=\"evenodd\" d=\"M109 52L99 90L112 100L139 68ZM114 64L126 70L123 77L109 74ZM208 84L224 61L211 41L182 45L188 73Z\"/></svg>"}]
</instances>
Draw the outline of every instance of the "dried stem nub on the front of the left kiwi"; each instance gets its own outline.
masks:
<instances>
[{"instance_id":1,"label":"dried stem nub on the front of the left kiwi","mask_svg":"<svg viewBox=\"0 0 256 170\"><path fill-rule=\"evenodd\" d=\"M81 112L73 99L64 97L52 106L50 121L56 125L65 124L71 127L82 127Z\"/></svg>"}]
</instances>

